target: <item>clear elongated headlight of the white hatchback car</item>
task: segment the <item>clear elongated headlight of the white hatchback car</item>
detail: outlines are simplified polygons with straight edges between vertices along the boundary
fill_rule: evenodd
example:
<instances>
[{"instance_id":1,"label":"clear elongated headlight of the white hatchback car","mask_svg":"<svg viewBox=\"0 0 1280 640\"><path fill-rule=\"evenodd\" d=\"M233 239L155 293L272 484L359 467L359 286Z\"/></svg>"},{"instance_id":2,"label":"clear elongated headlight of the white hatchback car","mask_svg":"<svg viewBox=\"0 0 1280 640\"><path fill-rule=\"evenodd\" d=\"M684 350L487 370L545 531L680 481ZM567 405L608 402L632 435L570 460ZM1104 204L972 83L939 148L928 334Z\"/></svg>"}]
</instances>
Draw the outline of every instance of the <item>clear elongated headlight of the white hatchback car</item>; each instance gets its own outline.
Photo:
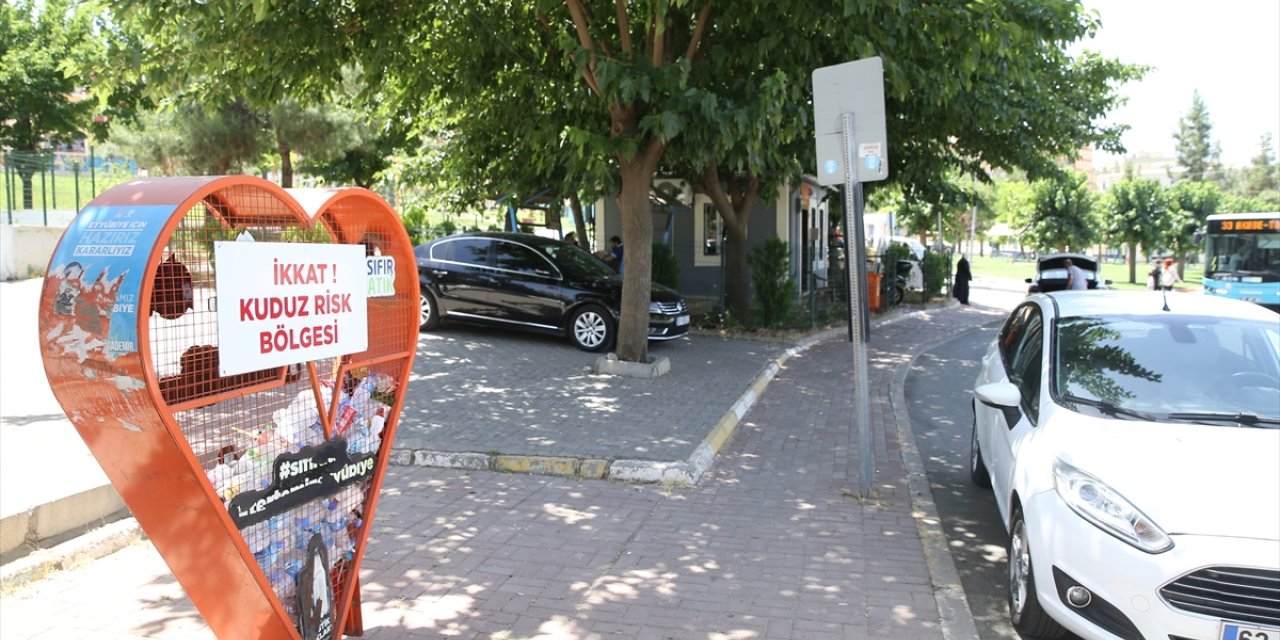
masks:
<instances>
[{"instance_id":1,"label":"clear elongated headlight of the white hatchback car","mask_svg":"<svg viewBox=\"0 0 1280 640\"><path fill-rule=\"evenodd\" d=\"M1071 511L1125 543L1147 553L1174 548L1174 540L1124 495L1061 460L1053 462L1053 488Z\"/></svg>"}]
</instances>

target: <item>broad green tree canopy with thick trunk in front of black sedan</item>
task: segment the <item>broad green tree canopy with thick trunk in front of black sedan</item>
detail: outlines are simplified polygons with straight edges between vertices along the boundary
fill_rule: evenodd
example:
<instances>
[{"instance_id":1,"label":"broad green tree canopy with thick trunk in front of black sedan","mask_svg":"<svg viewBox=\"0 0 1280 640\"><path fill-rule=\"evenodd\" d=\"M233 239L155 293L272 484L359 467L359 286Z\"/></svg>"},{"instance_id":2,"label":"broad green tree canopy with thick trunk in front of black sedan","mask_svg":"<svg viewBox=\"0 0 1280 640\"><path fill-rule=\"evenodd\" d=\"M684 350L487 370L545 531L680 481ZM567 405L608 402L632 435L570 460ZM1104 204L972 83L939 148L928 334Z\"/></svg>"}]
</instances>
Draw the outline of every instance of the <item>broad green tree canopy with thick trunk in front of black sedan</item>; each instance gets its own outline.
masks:
<instances>
[{"instance_id":1,"label":"broad green tree canopy with thick trunk in front of black sedan","mask_svg":"<svg viewBox=\"0 0 1280 640\"><path fill-rule=\"evenodd\" d=\"M614 193L623 360L646 357L654 174L699 180L732 233L814 163L814 68L883 58L891 177L929 206L955 170L1039 175L1085 146L1119 150L1123 127L1101 120L1142 73L1066 52L1098 24L1079 0L846 0L837 15L820 0L111 5L147 35L136 73L161 92L306 101L353 67L390 118L443 142L471 198Z\"/></svg>"}]
</instances>

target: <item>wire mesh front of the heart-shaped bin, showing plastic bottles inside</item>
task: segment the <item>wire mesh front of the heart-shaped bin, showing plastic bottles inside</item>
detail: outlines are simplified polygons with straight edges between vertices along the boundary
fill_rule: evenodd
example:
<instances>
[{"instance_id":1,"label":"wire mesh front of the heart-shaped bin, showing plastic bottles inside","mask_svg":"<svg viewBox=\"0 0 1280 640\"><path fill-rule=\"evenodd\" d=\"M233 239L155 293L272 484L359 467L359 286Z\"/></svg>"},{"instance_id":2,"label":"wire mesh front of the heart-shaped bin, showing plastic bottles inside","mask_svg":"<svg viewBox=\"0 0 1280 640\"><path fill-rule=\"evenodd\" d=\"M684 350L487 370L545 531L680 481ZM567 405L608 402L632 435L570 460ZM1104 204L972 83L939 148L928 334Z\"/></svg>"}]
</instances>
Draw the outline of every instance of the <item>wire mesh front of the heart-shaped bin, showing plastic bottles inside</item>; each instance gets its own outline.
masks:
<instances>
[{"instance_id":1,"label":"wire mesh front of the heart-shaped bin, showing plastic bottles inside","mask_svg":"<svg viewBox=\"0 0 1280 640\"><path fill-rule=\"evenodd\" d=\"M348 461L380 453L403 384L403 355L412 351L406 337L415 333L408 325L415 315L404 311L416 308L416 288L397 278L394 294L369 298L370 317L379 321L369 323L364 353L223 376L214 243L360 243L376 256L403 233L387 216L362 211L361 201L348 202L339 201L308 227L270 192L233 187L205 197L163 238L150 297L150 364L164 402L293 620L300 617L300 590L307 591L303 599L314 590L300 585L314 539L326 552L333 593L351 586L371 480L297 504L282 500L289 507L269 509L265 518L237 518L234 500L250 495L270 504L284 490L275 485L291 463L311 465L324 452Z\"/></svg>"}]
</instances>

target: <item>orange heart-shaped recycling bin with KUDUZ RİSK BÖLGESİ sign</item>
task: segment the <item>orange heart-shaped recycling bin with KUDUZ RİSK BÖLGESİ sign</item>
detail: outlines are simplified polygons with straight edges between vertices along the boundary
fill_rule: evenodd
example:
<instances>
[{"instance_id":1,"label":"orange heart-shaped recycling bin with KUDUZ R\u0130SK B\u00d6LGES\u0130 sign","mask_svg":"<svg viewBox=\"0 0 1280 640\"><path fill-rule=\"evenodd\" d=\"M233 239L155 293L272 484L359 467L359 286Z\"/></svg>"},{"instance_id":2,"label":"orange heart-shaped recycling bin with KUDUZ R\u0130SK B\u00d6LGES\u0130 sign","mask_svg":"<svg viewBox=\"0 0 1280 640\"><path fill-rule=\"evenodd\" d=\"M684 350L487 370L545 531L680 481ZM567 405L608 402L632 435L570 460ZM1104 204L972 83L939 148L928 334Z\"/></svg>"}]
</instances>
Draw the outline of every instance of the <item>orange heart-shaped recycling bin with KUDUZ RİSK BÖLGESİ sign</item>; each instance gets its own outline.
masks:
<instances>
[{"instance_id":1,"label":"orange heart-shaped recycling bin with KUDUZ R\u0130SK B\u00d6LGES\u0130 sign","mask_svg":"<svg viewBox=\"0 0 1280 640\"><path fill-rule=\"evenodd\" d=\"M362 632L417 300L399 218L358 188L137 180L59 242L54 394L219 637Z\"/></svg>"}]
</instances>

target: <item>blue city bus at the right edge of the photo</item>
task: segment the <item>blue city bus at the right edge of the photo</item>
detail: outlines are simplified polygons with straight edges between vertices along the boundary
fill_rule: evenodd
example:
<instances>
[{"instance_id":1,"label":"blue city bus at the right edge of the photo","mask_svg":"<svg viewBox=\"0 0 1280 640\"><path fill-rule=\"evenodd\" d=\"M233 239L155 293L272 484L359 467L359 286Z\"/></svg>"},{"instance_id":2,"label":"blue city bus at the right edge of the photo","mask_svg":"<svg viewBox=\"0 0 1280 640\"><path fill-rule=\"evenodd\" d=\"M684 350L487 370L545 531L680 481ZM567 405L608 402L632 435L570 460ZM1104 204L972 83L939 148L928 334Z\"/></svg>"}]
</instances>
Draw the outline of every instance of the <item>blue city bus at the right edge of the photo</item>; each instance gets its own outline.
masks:
<instances>
[{"instance_id":1,"label":"blue city bus at the right edge of the photo","mask_svg":"<svg viewBox=\"0 0 1280 640\"><path fill-rule=\"evenodd\" d=\"M1280 314L1280 212L1213 214L1204 234L1204 293Z\"/></svg>"}]
</instances>

